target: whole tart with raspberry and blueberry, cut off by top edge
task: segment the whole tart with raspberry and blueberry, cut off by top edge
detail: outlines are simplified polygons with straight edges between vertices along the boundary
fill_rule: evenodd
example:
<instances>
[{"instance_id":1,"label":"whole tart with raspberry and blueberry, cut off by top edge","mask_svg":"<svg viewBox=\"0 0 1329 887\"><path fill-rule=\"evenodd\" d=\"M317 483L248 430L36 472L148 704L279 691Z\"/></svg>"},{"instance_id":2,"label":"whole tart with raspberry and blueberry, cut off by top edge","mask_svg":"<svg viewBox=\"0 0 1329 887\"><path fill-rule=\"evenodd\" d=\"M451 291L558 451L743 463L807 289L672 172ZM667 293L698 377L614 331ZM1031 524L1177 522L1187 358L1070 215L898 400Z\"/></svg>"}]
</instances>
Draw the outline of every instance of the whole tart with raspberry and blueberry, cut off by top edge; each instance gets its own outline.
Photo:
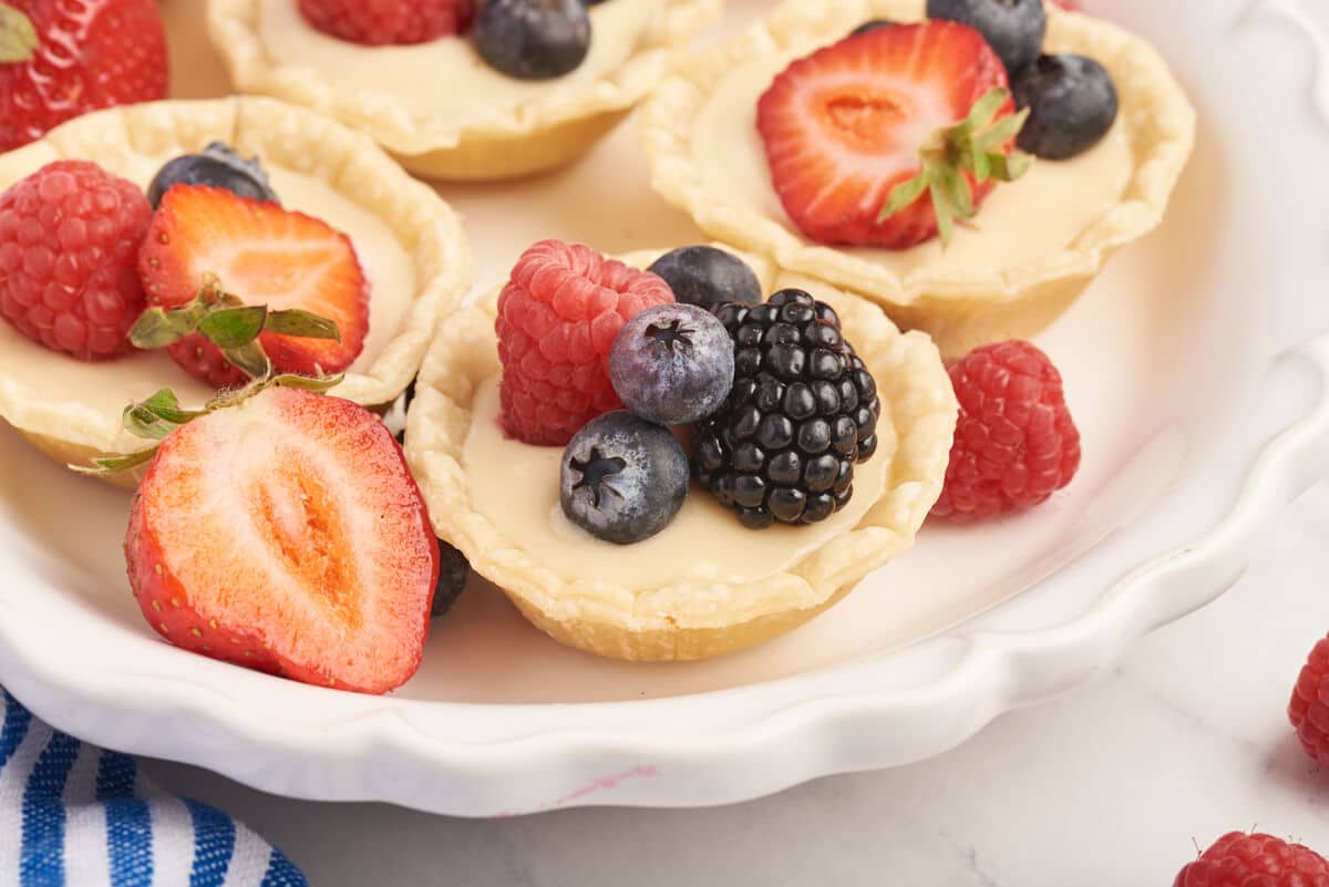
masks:
<instances>
[{"instance_id":1,"label":"whole tart with raspberry and blueberry, cut off by top edge","mask_svg":"<svg viewBox=\"0 0 1329 887\"><path fill-rule=\"evenodd\" d=\"M237 89L369 133L419 175L506 179L589 150L720 0L209 0Z\"/></svg>"}]
</instances>

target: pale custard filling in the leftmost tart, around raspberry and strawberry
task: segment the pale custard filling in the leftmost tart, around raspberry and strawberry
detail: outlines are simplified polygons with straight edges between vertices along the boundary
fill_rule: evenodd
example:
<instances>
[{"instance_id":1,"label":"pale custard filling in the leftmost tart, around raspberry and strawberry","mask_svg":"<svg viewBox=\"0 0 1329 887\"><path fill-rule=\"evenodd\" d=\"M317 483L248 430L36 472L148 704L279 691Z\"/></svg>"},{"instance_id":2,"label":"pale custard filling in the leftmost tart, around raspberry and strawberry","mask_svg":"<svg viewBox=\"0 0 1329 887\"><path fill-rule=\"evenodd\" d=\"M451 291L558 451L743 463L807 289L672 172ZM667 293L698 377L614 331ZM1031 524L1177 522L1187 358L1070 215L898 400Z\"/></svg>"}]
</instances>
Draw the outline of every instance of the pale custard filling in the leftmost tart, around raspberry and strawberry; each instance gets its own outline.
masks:
<instances>
[{"instance_id":1,"label":"pale custard filling in the leftmost tart, around raspberry and strawberry","mask_svg":"<svg viewBox=\"0 0 1329 887\"><path fill-rule=\"evenodd\" d=\"M146 187L169 159L132 155L117 173ZM324 220L346 232L355 246L372 287L369 335L351 365L351 372L364 372L401 329L416 295L415 264L381 219L326 182L280 167L268 167L268 175L286 208ZM29 400L76 401L117 417L126 404L159 388L174 389L185 404L202 404L213 393L165 352L130 352L85 363L31 341L7 323L0 323L0 378L21 382Z\"/></svg>"}]
</instances>

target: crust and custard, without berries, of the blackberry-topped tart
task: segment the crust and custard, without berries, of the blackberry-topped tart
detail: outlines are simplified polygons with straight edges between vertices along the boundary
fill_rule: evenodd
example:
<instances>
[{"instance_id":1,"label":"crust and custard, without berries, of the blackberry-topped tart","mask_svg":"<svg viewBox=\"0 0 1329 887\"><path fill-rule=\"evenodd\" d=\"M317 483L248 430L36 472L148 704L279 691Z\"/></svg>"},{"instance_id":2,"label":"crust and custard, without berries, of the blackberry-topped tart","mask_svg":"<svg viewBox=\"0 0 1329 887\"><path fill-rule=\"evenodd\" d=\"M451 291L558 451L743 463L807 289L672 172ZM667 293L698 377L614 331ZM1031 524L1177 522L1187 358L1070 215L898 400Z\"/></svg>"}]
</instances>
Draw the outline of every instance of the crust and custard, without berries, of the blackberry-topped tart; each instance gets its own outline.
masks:
<instances>
[{"instance_id":1,"label":"crust and custard, without berries, of the blackberry-topped tart","mask_svg":"<svg viewBox=\"0 0 1329 887\"><path fill-rule=\"evenodd\" d=\"M623 260L645 267L658 255ZM635 661L752 647L909 548L940 495L957 406L932 340L824 283L752 267L768 293L799 287L835 307L880 390L880 449L857 466L855 498L821 524L747 530L694 483L658 535L594 539L558 507L562 447L504 440L493 421L497 291L440 327L407 417L407 459L439 535L554 640Z\"/></svg>"}]
</instances>

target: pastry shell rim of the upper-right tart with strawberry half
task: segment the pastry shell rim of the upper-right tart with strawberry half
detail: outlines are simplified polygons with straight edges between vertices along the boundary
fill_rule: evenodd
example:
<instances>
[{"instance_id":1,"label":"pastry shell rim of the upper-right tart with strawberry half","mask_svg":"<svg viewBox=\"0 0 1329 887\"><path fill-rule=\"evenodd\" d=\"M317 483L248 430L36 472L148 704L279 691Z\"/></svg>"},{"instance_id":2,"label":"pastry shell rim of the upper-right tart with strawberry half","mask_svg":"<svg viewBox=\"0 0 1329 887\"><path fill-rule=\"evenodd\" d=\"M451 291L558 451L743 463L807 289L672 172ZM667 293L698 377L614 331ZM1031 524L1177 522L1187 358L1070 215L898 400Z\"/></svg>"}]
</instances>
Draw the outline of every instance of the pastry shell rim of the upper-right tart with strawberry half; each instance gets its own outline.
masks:
<instances>
[{"instance_id":1,"label":"pastry shell rim of the upper-right tart with strawberry half","mask_svg":"<svg viewBox=\"0 0 1329 887\"><path fill-rule=\"evenodd\" d=\"M1185 93L1148 42L1049 5L1046 48L1091 56L1112 73L1118 126L1126 127L1135 162L1119 202L1065 248L1007 268L957 274L925 266L898 275L869 258L816 244L785 219L715 199L690 143L699 112L728 70L762 54L811 52L869 19L917 21L925 8L924 0L785 0L730 44L680 57L642 106L641 139L653 187L707 234L881 303L902 327L930 333L953 359L989 341L1033 336L1075 300L1112 252L1158 227L1193 149L1196 122Z\"/></svg>"}]
</instances>

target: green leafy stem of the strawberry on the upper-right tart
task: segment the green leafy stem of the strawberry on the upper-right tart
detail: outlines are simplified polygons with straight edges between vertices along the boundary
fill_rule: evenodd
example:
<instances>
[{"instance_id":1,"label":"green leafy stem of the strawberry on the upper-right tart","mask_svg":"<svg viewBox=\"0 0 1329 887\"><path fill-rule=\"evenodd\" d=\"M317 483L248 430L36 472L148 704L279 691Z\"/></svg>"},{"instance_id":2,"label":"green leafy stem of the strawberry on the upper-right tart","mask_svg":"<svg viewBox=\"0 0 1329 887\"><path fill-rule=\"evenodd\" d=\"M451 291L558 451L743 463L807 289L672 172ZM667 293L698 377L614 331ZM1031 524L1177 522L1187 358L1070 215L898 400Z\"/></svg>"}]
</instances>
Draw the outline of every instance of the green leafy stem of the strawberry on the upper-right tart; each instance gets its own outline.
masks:
<instances>
[{"instance_id":1,"label":"green leafy stem of the strawberry on the upper-right tart","mask_svg":"<svg viewBox=\"0 0 1329 887\"><path fill-rule=\"evenodd\" d=\"M969 109L965 120L937 130L920 151L918 174L890 189L877 223L913 206L926 193L937 216L937 234L942 246L949 246L956 222L978 214L966 171L973 173L974 182L979 185L991 179L1014 182L1027 173L1031 158L1018 150L1006 154L1002 147L1019 134L1029 109L993 122L1009 98L1006 89L989 89Z\"/></svg>"}]
</instances>

